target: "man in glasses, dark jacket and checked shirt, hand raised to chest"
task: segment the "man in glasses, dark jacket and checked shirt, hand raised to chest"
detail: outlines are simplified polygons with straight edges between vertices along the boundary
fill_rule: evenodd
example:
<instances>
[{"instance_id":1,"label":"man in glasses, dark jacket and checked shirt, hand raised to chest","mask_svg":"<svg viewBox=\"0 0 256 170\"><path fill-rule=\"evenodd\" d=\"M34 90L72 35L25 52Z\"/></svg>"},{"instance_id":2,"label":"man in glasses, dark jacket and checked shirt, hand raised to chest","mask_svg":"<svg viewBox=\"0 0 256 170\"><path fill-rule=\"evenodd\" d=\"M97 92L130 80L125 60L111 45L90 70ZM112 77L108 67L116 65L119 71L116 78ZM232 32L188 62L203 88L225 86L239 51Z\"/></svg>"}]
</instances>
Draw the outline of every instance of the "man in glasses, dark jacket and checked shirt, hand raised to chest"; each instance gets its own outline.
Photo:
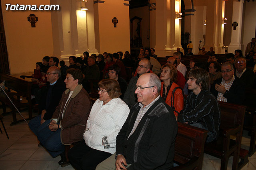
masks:
<instances>
[{"instance_id":1,"label":"man in glasses, dark jacket and checked shirt, hand raised to chest","mask_svg":"<svg viewBox=\"0 0 256 170\"><path fill-rule=\"evenodd\" d=\"M218 101L242 104L245 99L244 83L234 75L232 63L223 63L221 66L222 78L216 79L212 86L211 92Z\"/></svg>"}]
</instances>

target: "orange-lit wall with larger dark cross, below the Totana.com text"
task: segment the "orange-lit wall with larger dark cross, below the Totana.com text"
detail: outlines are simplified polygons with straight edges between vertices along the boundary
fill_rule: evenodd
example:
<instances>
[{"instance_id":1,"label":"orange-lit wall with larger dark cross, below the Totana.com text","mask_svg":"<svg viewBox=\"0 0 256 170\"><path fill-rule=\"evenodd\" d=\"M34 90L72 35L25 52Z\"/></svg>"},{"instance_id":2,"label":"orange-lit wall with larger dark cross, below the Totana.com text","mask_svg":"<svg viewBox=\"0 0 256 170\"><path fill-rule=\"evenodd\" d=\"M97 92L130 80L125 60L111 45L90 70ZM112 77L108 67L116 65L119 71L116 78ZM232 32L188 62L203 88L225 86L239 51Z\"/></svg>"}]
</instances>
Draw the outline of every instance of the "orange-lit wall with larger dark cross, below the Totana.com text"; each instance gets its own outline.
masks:
<instances>
[{"instance_id":1,"label":"orange-lit wall with larger dark cross, below the Totana.com text","mask_svg":"<svg viewBox=\"0 0 256 170\"><path fill-rule=\"evenodd\" d=\"M10 74L26 73L36 68L36 62L42 61L53 52L52 24L50 11L26 10L6 11L5 4L50 4L49 0L2 0L2 12ZM10 7L9 7L10 8ZM36 27L32 28L28 16L38 17Z\"/></svg>"}]
</instances>

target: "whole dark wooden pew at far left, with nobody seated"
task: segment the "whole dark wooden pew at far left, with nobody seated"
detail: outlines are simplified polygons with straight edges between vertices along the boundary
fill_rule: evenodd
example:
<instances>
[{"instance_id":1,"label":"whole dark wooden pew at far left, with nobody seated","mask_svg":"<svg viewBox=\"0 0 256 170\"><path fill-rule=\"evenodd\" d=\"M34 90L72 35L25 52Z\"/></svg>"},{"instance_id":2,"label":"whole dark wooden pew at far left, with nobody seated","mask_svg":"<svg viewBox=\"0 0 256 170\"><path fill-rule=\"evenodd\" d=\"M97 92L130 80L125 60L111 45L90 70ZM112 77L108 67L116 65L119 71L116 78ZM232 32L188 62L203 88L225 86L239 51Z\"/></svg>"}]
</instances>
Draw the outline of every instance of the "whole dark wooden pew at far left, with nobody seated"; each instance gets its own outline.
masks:
<instances>
[{"instance_id":1,"label":"whole dark wooden pew at far left, with nobody seated","mask_svg":"<svg viewBox=\"0 0 256 170\"><path fill-rule=\"evenodd\" d=\"M0 73L0 81L4 81L4 80L6 81L5 87L8 88L7 94L12 100L12 102L14 103L14 105L17 108L28 107L28 115L29 115L28 119L32 119L32 101L31 101L32 82L27 81L25 79L13 77L8 74ZM11 90L16 92L11 92ZM26 99L24 97L26 97ZM6 105L8 105L12 110L13 122L10 124L11 126L24 121L23 119L17 121L16 109L3 92L0 92L0 101L2 102L2 106L3 106L3 112L4 112L3 114L6 114Z\"/></svg>"}]
</instances>

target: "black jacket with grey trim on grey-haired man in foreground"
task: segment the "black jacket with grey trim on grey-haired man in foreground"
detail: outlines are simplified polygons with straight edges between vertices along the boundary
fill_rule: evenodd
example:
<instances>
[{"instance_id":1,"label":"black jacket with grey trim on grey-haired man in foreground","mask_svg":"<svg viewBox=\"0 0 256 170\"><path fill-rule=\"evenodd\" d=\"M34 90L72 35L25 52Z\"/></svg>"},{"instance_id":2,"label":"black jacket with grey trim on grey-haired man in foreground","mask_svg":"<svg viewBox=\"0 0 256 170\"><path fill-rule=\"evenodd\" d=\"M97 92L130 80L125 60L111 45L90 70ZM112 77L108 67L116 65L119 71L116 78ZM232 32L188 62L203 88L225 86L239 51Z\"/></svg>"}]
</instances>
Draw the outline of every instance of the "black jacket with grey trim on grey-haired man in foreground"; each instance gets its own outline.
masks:
<instances>
[{"instance_id":1,"label":"black jacket with grey trim on grey-haired man in foreground","mask_svg":"<svg viewBox=\"0 0 256 170\"><path fill-rule=\"evenodd\" d=\"M128 170L169 170L173 166L178 130L172 109L160 97L128 138L139 111L140 105L136 103L116 137L116 155L122 154L132 164Z\"/></svg>"}]
</instances>

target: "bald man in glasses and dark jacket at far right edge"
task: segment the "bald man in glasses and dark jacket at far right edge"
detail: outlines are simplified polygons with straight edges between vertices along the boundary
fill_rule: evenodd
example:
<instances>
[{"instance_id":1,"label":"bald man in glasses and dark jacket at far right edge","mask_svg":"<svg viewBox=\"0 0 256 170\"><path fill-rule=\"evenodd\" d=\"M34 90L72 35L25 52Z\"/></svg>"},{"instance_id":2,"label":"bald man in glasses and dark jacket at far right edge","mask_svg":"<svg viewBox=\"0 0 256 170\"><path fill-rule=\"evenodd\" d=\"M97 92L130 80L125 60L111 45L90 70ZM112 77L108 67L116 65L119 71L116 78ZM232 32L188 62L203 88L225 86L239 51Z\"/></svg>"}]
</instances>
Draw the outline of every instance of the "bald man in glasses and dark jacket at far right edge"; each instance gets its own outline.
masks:
<instances>
[{"instance_id":1,"label":"bald man in glasses and dark jacket at far right edge","mask_svg":"<svg viewBox=\"0 0 256 170\"><path fill-rule=\"evenodd\" d=\"M245 58L236 58L235 59L235 75L246 85L247 89L253 87L255 80L255 74L251 69L246 68L246 59Z\"/></svg>"}]
</instances>

